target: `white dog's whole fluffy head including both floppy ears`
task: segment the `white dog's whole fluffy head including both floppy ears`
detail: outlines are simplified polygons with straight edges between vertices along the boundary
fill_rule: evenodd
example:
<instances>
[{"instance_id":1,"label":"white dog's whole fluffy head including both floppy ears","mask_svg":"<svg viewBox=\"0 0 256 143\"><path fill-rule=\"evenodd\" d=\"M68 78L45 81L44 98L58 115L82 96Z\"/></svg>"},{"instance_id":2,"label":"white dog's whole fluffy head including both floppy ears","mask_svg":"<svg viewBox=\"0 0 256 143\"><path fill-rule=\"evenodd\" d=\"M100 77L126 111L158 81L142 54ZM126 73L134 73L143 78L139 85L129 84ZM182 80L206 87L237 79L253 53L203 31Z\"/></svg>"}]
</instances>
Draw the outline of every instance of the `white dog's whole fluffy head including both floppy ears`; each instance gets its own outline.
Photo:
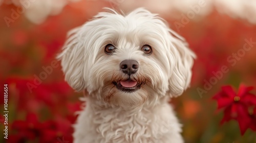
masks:
<instances>
[{"instance_id":1,"label":"white dog's whole fluffy head including both floppy ears","mask_svg":"<svg viewBox=\"0 0 256 143\"><path fill-rule=\"evenodd\" d=\"M144 9L99 13L71 31L59 55L71 87L123 107L179 96L194 57L182 37Z\"/></svg>"}]
</instances>

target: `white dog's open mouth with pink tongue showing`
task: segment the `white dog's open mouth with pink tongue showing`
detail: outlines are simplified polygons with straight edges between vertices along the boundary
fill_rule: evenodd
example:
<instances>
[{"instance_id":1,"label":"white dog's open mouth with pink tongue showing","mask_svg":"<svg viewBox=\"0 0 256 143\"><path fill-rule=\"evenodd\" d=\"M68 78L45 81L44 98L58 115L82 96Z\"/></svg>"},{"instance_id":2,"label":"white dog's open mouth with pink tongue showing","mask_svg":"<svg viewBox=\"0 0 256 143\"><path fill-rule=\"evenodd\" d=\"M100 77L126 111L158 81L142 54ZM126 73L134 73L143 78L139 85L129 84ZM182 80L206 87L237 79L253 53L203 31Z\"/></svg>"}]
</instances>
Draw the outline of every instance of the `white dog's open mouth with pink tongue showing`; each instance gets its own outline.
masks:
<instances>
[{"instance_id":1,"label":"white dog's open mouth with pink tongue showing","mask_svg":"<svg viewBox=\"0 0 256 143\"><path fill-rule=\"evenodd\" d=\"M113 82L113 84L116 85L117 89L125 92L134 92L140 89L140 85L141 85L137 81L132 81L130 79L125 81Z\"/></svg>"}]
</instances>

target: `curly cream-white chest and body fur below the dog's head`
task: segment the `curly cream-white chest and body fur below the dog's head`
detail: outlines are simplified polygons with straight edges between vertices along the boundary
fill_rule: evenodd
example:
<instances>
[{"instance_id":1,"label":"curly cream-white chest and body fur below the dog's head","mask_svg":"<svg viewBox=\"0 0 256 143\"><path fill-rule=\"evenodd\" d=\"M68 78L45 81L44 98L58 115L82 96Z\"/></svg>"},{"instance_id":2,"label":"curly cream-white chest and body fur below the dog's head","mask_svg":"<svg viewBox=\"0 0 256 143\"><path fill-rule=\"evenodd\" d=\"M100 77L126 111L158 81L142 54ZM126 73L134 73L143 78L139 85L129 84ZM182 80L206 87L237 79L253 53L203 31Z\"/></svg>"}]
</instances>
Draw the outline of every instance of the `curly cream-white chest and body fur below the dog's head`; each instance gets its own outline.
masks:
<instances>
[{"instance_id":1,"label":"curly cream-white chest and body fur below the dog's head","mask_svg":"<svg viewBox=\"0 0 256 143\"><path fill-rule=\"evenodd\" d=\"M138 110L101 109L88 102L80 113L74 142L175 142L182 140L180 124L166 102ZM174 140L175 139L175 140Z\"/></svg>"}]
</instances>

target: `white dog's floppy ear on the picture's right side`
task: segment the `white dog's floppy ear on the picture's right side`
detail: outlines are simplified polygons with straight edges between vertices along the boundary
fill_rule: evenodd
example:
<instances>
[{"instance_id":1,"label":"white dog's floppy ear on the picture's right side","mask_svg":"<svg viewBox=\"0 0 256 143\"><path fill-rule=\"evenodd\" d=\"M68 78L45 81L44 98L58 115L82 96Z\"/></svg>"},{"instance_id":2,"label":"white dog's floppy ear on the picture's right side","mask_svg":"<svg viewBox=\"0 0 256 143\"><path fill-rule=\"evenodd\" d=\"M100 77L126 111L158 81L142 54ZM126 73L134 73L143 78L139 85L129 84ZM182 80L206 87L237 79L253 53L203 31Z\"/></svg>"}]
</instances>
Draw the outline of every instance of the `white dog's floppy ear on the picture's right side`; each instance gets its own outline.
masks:
<instances>
[{"instance_id":1,"label":"white dog's floppy ear on the picture's right side","mask_svg":"<svg viewBox=\"0 0 256 143\"><path fill-rule=\"evenodd\" d=\"M191 68L196 55L188 48L188 44L183 37L178 35L173 30L170 33L170 49L175 56L173 71L169 78L167 93L170 97L180 96L183 91L189 86L191 81Z\"/></svg>"}]
</instances>

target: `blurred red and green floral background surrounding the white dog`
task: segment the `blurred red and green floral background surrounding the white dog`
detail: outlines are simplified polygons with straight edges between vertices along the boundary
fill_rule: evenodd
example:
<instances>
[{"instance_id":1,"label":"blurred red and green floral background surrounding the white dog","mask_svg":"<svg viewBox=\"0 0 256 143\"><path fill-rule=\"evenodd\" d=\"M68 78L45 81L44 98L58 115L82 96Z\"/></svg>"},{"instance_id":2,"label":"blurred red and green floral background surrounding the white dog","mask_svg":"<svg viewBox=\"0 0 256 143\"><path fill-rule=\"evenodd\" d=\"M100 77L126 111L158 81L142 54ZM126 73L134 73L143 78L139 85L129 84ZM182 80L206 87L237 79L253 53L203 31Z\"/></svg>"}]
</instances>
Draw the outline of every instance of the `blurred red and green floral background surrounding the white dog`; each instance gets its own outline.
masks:
<instances>
[{"instance_id":1,"label":"blurred red and green floral background surrounding the white dog","mask_svg":"<svg viewBox=\"0 0 256 143\"><path fill-rule=\"evenodd\" d=\"M256 142L253 0L0 0L0 142L72 142L82 93L55 57L67 32L104 7L159 13L197 54L190 88L171 101L185 142Z\"/></svg>"}]
</instances>

